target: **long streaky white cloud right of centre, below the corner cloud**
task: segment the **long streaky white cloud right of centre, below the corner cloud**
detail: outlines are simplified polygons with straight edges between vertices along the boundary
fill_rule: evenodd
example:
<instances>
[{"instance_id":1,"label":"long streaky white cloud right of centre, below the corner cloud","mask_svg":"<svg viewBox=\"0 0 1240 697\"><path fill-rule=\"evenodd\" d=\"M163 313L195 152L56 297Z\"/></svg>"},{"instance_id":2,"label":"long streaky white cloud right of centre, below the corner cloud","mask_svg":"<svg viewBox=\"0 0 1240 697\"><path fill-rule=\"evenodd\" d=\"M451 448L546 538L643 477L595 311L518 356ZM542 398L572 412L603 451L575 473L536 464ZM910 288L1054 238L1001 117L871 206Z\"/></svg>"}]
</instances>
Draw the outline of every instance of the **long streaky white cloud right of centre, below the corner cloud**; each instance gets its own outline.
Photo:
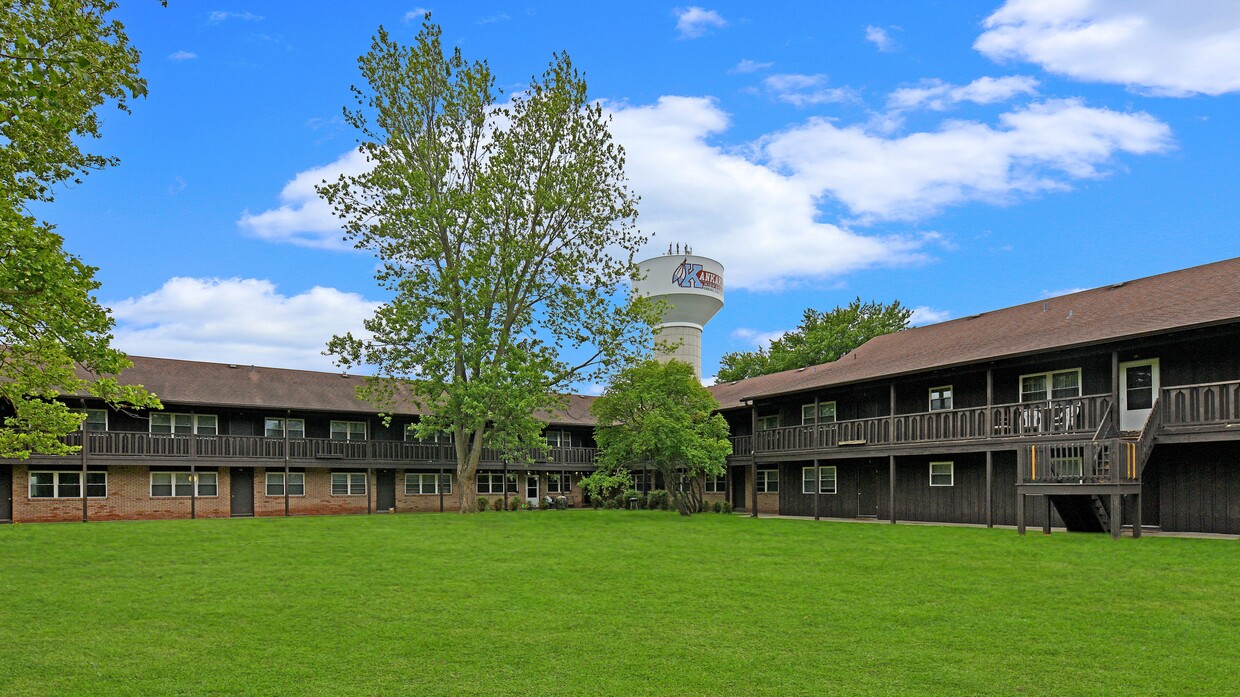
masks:
<instances>
[{"instance_id":1,"label":"long streaky white cloud right of centre, below the corner cloud","mask_svg":"<svg viewBox=\"0 0 1240 697\"><path fill-rule=\"evenodd\" d=\"M1171 148L1171 129L1146 113L1076 99L1034 103L998 127L950 120L939 130L888 136L827 119L768 136L766 161L862 221L916 220L967 201L1007 202L1104 176L1116 155Z\"/></svg>"}]
</instances>

